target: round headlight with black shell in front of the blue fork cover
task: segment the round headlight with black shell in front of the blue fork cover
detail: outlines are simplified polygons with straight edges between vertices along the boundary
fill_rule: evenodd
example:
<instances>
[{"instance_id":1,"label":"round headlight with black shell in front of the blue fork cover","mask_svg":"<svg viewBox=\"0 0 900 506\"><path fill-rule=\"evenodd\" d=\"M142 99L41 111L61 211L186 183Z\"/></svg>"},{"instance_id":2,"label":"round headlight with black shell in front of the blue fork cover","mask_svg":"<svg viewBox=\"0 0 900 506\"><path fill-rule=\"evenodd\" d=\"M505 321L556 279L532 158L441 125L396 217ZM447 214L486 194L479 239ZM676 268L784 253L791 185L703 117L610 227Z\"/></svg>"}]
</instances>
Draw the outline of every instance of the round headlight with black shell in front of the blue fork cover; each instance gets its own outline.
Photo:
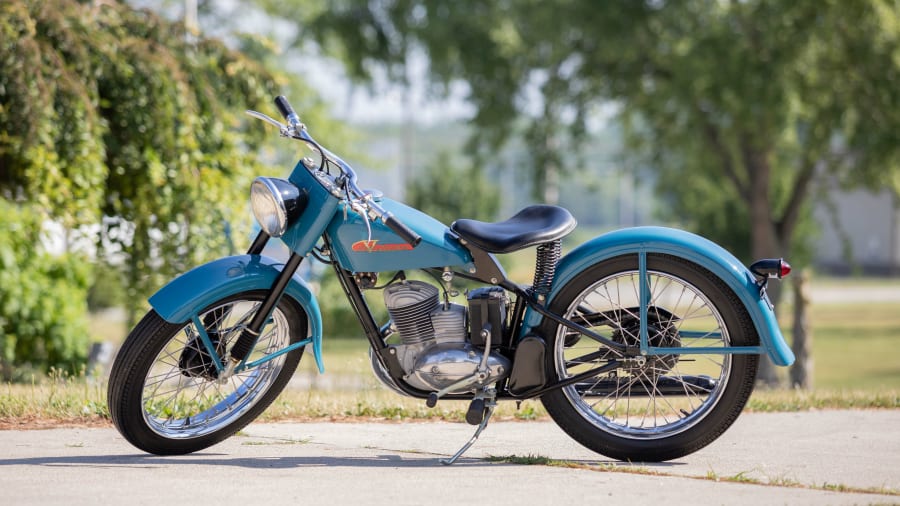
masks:
<instances>
[{"instance_id":1,"label":"round headlight with black shell in front of the blue fork cover","mask_svg":"<svg viewBox=\"0 0 900 506\"><path fill-rule=\"evenodd\" d=\"M306 195L284 179L258 177L250 185L250 208L263 231L281 237L303 208Z\"/></svg>"}]
</instances>

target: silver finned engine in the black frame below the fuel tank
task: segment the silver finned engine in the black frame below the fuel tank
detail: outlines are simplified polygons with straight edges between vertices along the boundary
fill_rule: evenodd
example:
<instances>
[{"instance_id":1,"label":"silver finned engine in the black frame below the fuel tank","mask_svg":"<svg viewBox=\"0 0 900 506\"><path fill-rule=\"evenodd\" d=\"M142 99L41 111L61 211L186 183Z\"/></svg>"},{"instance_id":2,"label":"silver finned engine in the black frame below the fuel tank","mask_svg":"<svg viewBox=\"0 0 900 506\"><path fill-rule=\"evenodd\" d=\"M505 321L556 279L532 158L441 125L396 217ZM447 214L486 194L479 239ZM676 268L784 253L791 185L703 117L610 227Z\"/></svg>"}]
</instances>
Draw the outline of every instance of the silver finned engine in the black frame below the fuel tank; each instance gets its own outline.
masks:
<instances>
[{"instance_id":1,"label":"silver finned engine in the black frame below the fuel tank","mask_svg":"<svg viewBox=\"0 0 900 506\"><path fill-rule=\"evenodd\" d=\"M499 297L503 294L503 297ZM491 299L485 304L485 299ZM473 375L483 355L481 347L469 339L468 311L461 304L441 303L436 287L422 281L404 281L384 289L384 303L391 315L401 343L393 345L405 380L421 390L441 390ZM478 310L479 319L489 317L492 324L492 348L500 344L506 315L505 293L499 288L474 290L469 304ZM485 310L489 308L489 310ZM488 321L488 320L485 320ZM474 323L471 334L480 338L481 325ZM510 361L492 351L488 355L488 378L482 384L498 381L509 374ZM463 393L472 386L461 388Z\"/></svg>"}]
</instances>

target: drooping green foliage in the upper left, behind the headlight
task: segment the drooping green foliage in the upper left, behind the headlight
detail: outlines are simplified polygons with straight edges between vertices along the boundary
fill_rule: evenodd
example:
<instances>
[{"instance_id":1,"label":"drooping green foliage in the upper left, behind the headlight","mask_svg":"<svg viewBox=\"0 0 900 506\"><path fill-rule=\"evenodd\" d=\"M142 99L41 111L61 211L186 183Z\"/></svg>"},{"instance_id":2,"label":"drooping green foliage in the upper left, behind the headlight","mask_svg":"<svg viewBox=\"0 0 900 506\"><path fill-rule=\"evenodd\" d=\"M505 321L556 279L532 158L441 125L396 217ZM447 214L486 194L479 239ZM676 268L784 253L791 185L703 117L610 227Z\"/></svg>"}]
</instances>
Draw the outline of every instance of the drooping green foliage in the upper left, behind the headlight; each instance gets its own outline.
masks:
<instances>
[{"instance_id":1,"label":"drooping green foliage in the upper left, behind the headlight","mask_svg":"<svg viewBox=\"0 0 900 506\"><path fill-rule=\"evenodd\" d=\"M83 301L65 292L84 290L77 262L28 257L39 234L15 226L62 224L69 248L80 236L124 266L134 314L173 273L226 252L225 223L249 226L264 129L243 111L269 108L282 84L256 60L124 3L35 0L0 3L0 63L0 196L36 214L3 213L13 265L68 272L58 292ZM56 291L19 298L32 307L3 317L34 317ZM8 283L0 292L16 298ZM50 327L29 335L68 335Z\"/></svg>"}]
</instances>

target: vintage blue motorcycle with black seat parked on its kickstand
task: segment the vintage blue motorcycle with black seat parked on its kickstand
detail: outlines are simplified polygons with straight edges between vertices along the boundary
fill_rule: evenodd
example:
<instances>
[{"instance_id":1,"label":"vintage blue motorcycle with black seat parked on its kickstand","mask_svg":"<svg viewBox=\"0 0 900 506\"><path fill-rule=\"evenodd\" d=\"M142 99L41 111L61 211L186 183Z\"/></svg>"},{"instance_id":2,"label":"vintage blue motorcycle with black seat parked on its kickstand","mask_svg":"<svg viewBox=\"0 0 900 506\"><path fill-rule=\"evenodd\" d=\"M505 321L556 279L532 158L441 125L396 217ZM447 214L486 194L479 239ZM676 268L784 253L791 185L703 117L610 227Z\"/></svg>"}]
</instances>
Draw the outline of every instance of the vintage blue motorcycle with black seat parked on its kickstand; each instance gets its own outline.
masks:
<instances>
[{"instance_id":1,"label":"vintage blue motorcycle with black seat parked on its kickstand","mask_svg":"<svg viewBox=\"0 0 900 506\"><path fill-rule=\"evenodd\" d=\"M497 402L525 399L607 457L679 458L735 421L761 354L794 360L766 294L790 272L783 259L748 269L709 240L662 227L607 233L562 256L576 222L550 205L447 227L362 190L288 101L275 103L286 124L247 113L310 154L288 179L253 181L261 231L247 254L160 289L117 354L110 416L141 450L186 454L230 437L279 395L306 348L324 372L319 304L297 275L304 258L333 267L380 381L429 407L469 401L465 419L477 428L446 464L478 439ZM290 250L286 261L261 255L272 239ZM530 247L534 282L510 281L495 255ZM464 304L451 300L462 283ZM366 300L378 291L386 322Z\"/></svg>"}]
</instances>

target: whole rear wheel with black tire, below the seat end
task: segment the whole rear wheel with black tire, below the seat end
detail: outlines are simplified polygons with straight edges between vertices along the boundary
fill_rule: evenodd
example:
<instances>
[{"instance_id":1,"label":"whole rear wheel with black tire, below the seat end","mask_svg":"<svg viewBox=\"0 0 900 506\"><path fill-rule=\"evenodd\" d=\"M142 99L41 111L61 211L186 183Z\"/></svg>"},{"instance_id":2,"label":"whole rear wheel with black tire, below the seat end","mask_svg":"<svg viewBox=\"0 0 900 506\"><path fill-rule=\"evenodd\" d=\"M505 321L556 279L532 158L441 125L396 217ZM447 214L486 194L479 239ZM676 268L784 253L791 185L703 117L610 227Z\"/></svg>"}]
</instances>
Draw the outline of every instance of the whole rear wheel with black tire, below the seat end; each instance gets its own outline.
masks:
<instances>
[{"instance_id":1,"label":"whole rear wheel with black tire, below the seat end","mask_svg":"<svg viewBox=\"0 0 900 506\"><path fill-rule=\"evenodd\" d=\"M564 286L551 309L613 341L638 346L640 277L637 255L599 262ZM650 346L714 349L759 343L746 308L702 266L648 254L645 283ZM697 350L701 353L621 360L565 327L546 322L542 329L551 342L549 378L565 379L612 361L621 364L542 397L566 433L608 457L657 462L693 453L734 422L753 390L758 355Z\"/></svg>"}]
</instances>

